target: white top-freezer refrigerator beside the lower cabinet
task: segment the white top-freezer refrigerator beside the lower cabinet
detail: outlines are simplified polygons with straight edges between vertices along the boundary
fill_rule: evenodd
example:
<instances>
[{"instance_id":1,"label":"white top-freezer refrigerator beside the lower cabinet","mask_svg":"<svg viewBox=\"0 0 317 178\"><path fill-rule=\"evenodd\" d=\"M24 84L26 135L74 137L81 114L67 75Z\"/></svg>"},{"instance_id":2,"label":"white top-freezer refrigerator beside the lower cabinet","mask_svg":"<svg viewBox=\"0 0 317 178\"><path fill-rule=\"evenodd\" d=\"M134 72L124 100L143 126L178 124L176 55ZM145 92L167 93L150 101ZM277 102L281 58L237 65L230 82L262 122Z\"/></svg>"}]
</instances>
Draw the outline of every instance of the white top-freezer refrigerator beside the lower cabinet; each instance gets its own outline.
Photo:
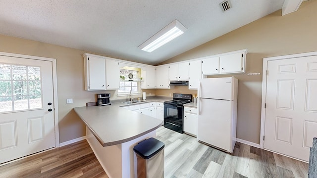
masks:
<instances>
[{"instance_id":1,"label":"white top-freezer refrigerator beside the lower cabinet","mask_svg":"<svg viewBox=\"0 0 317 178\"><path fill-rule=\"evenodd\" d=\"M197 139L233 153L236 143L238 79L201 79L198 89Z\"/></svg>"}]
</instances>

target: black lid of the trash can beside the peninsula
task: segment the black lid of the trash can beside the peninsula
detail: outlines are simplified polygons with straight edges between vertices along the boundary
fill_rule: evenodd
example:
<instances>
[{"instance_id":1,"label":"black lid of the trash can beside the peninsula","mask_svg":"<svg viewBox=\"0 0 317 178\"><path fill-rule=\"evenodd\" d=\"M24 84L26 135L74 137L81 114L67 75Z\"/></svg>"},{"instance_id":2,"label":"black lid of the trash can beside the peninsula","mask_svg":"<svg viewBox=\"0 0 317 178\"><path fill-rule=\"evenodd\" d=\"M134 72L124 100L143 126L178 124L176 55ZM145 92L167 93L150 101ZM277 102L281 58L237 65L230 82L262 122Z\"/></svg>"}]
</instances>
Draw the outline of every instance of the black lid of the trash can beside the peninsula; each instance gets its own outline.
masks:
<instances>
[{"instance_id":1,"label":"black lid of the trash can beside the peninsula","mask_svg":"<svg viewBox=\"0 0 317 178\"><path fill-rule=\"evenodd\" d=\"M145 139L134 146L133 150L144 159L150 159L164 148L164 143L153 137Z\"/></svg>"}]
</instances>

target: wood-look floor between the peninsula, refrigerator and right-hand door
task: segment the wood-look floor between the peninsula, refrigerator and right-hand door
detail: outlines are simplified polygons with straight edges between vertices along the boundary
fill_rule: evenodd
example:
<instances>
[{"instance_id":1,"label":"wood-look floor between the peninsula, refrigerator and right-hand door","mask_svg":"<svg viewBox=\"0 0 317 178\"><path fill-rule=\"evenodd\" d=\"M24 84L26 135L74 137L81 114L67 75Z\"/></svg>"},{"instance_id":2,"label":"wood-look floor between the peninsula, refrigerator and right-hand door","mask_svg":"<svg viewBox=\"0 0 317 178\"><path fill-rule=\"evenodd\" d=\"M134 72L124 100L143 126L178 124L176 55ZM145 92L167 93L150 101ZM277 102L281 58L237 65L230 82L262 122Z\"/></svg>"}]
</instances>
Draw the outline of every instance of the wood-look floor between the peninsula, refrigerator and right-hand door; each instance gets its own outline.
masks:
<instances>
[{"instance_id":1,"label":"wood-look floor between the peninsula, refrigerator and right-hand door","mask_svg":"<svg viewBox=\"0 0 317 178\"><path fill-rule=\"evenodd\" d=\"M242 143L231 155L163 127L157 139L165 143L165 178L308 177L307 163Z\"/></svg>"}]
</instances>

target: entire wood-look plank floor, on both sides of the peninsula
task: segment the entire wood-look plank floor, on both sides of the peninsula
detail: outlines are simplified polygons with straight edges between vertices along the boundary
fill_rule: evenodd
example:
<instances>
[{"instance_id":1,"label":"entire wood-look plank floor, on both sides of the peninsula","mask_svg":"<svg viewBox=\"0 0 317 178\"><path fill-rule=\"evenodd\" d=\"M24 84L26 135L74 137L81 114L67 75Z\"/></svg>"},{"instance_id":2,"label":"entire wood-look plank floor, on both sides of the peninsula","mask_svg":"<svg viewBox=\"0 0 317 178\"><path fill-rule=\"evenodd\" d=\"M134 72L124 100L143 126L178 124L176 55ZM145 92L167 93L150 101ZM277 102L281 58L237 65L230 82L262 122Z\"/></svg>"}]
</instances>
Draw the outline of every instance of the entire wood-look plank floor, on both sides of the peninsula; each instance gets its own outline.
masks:
<instances>
[{"instance_id":1,"label":"entire wood-look plank floor, on both sides of the peninsula","mask_svg":"<svg viewBox=\"0 0 317 178\"><path fill-rule=\"evenodd\" d=\"M232 155L160 127L165 178L307 178L308 164L237 143ZM0 178L107 178L86 140L0 166Z\"/></svg>"}]
</instances>

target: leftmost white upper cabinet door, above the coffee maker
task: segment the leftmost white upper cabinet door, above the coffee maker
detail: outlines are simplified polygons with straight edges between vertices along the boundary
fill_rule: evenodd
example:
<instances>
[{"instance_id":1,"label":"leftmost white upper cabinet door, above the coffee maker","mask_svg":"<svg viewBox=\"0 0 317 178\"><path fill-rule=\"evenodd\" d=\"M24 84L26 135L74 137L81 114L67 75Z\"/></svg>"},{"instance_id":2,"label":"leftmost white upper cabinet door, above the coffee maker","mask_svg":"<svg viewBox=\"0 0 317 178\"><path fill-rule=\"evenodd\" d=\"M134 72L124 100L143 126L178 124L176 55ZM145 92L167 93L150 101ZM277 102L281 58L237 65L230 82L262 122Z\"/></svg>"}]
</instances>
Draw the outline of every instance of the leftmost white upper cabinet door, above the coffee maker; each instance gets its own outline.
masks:
<instances>
[{"instance_id":1,"label":"leftmost white upper cabinet door, above the coffee maker","mask_svg":"<svg viewBox=\"0 0 317 178\"><path fill-rule=\"evenodd\" d=\"M85 57L85 90L106 89L106 60L100 57Z\"/></svg>"}]
</instances>

